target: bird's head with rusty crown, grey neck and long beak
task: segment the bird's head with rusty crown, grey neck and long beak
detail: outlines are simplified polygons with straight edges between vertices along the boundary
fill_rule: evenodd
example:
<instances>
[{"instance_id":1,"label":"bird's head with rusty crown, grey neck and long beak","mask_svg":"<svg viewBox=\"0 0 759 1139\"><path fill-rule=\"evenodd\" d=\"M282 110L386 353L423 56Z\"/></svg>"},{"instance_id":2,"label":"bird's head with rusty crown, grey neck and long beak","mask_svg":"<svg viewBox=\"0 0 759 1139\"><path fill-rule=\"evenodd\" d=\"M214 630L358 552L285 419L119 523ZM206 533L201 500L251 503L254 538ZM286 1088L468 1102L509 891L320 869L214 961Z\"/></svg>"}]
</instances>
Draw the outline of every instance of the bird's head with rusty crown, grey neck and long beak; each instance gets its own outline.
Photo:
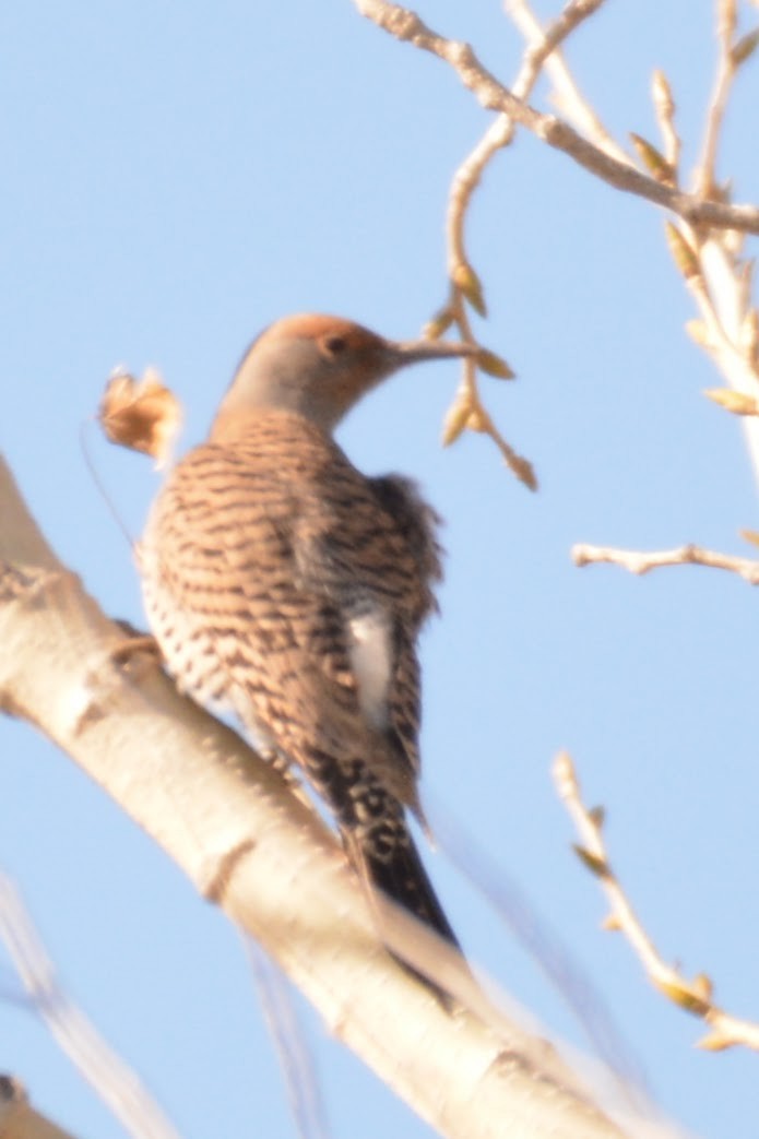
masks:
<instances>
[{"instance_id":1,"label":"bird's head with rusty crown, grey neck and long beak","mask_svg":"<svg viewBox=\"0 0 759 1139\"><path fill-rule=\"evenodd\" d=\"M330 432L365 392L399 368L470 355L467 344L394 342L340 317L286 317L253 342L221 402L212 437L262 409L296 411Z\"/></svg>"}]
</instances>

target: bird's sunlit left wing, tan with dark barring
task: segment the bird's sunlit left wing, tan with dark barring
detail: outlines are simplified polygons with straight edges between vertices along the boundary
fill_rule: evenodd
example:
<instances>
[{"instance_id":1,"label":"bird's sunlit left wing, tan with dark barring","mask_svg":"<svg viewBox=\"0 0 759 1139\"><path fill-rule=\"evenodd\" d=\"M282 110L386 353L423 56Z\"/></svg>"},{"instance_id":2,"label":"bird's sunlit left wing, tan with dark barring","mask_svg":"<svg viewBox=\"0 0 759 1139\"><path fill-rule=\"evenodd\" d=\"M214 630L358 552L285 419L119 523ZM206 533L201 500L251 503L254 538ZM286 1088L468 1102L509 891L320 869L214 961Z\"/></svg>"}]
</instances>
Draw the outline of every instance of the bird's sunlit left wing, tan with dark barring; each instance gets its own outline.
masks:
<instances>
[{"instance_id":1,"label":"bird's sunlit left wing, tan with dark barring","mask_svg":"<svg viewBox=\"0 0 759 1139\"><path fill-rule=\"evenodd\" d=\"M356 734L357 685L338 614L301 581L286 481L240 460L205 445L170 475L141 549L148 615L191 695L297 761L302 732Z\"/></svg>"}]
</instances>

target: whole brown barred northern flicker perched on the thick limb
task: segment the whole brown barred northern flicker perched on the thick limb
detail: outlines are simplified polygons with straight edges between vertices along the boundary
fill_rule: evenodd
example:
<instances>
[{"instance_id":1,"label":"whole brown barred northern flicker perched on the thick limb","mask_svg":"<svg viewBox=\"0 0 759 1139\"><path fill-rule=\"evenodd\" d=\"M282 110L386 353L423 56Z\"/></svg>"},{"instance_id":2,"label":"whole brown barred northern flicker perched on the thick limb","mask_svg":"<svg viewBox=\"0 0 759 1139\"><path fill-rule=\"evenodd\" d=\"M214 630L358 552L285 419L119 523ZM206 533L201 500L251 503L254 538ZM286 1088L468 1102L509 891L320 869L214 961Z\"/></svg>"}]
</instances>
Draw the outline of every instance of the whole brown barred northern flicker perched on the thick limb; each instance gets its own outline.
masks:
<instances>
[{"instance_id":1,"label":"whole brown barred northern flicker perched on the thick limb","mask_svg":"<svg viewBox=\"0 0 759 1139\"><path fill-rule=\"evenodd\" d=\"M332 433L398 369L468 351L336 317L272 325L209 441L170 473L139 555L179 686L300 769L364 883L454 945L406 822L421 816L416 639L441 576L438 518L410 481L357 470Z\"/></svg>"}]
</instances>

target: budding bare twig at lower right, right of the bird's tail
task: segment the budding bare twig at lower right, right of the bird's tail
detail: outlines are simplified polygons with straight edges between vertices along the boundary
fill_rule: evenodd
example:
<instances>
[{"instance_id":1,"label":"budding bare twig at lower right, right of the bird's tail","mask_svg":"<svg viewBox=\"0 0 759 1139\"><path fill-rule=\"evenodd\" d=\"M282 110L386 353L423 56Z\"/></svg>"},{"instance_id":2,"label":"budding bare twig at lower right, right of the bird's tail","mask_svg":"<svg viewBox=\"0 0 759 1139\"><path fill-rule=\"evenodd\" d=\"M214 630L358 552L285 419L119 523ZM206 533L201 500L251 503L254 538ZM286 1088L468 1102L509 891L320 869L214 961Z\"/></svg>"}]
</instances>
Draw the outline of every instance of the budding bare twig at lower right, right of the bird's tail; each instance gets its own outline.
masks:
<instances>
[{"instance_id":1,"label":"budding bare twig at lower right, right of the bird's tail","mask_svg":"<svg viewBox=\"0 0 759 1139\"><path fill-rule=\"evenodd\" d=\"M581 845L577 847L583 865L596 876L610 904L604 925L620 931L638 957L648 981L672 1003L701 1017L710 1031L699 1041L700 1048L719 1050L743 1044L759 1051L759 1025L725 1013L711 999L712 985L699 974L688 981L678 969L667 965L646 933L610 863L602 834L603 810L588 810L580 798L580 786L571 757L560 753L554 763L554 781L560 797L577 828Z\"/></svg>"}]
</instances>

